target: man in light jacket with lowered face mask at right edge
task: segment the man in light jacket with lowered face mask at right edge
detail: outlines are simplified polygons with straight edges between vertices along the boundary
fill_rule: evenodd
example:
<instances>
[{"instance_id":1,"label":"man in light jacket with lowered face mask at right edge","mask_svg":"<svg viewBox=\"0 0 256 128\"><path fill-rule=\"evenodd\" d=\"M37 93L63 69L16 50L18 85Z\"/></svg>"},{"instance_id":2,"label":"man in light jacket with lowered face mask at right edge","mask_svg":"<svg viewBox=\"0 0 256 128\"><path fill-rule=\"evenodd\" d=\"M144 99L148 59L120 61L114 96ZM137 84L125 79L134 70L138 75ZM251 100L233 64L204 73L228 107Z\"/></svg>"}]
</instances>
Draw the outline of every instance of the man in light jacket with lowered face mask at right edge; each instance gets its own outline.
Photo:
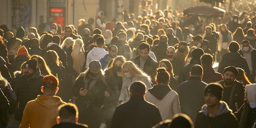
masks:
<instances>
[{"instance_id":1,"label":"man in light jacket with lowered face mask at right edge","mask_svg":"<svg viewBox=\"0 0 256 128\"><path fill-rule=\"evenodd\" d=\"M256 50L250 45L248 40L242 41L242 48L239 53L244 57L248 63L250 73L247 74L250 81L254 81L256 70Z\"/></svg>"}]
</instances>

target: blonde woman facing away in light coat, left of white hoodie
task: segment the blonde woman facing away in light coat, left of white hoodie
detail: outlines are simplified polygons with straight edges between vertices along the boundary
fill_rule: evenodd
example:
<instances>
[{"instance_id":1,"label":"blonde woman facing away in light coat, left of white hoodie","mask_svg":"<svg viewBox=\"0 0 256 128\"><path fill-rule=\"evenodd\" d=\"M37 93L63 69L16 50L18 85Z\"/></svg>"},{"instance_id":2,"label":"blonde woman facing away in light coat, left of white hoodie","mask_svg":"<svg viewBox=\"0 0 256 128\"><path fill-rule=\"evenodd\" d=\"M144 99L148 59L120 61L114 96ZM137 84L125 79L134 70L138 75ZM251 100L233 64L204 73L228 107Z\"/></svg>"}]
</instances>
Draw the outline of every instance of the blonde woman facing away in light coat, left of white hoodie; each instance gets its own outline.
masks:
<instances>
[{"instance_id":1,"label":"blonde woman facing away in light coat, left of white hoodie","mask_svg":"<svg viewBox=\"0 0 256 128\"><path fill-rule=\"evenodd\" d=\"M85 63L85 54L83 50L84 44L82 39L76 39L73 47L73 51L71 52L71 56L73 58L73 68L76 70L78 74L83 72L83 64Z\"/></svg>"}]
</instances>

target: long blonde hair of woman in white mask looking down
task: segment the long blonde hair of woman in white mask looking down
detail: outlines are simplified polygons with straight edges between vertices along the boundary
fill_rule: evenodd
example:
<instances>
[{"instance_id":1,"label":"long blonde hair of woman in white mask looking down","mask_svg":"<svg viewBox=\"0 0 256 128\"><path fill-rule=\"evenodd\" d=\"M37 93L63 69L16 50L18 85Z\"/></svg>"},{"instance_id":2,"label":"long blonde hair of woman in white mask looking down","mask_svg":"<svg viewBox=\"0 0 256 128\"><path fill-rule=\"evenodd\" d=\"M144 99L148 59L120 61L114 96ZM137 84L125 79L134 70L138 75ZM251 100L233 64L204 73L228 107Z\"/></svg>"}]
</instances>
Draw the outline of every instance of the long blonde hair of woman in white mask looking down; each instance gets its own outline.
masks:
<instances>
[{"instance_id":1,"label":"long blonde hair of woman in white mask looking down","mask_svg":"<svg viewBox=\"0 0 256 128\"><path fill-rule=\"evenodd\" d=\"M132 61L126 61L122 66L122 74L123 74L123 80L125 81L127 78L125 77L125 72L123 71L124 68L128 68L131 70L131 73L135 77L140 78L146 78L147 80L151 81L151 78L147 73L142 71L136 64L134 64Z\"/></svg>"}]
</instances>

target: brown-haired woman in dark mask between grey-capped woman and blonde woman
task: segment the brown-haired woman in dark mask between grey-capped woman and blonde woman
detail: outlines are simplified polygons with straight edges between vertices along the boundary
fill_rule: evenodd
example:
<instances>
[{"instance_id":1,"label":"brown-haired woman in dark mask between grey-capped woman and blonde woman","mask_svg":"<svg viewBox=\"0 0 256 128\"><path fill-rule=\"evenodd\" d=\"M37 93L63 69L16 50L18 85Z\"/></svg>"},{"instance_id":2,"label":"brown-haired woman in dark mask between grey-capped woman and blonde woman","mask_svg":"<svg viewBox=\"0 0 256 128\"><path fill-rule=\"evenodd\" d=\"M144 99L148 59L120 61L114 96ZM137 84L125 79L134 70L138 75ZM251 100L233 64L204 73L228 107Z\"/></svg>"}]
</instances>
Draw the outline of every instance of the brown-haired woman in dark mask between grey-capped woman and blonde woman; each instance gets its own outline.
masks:
<instances>
[{"instance_id":1,"label":"brown-haired woman in dark mask between grey-capped woman and blonde woman","mask_svg":"<svg viewBox=\"0 0 256 128\"><path fill-rule=\"evenodd\" d=\"M106 112L103 117L106 121L106 125L110 126L112 116L116 107L118 106L118 99L123 85L122 66L126 62L125 57L117 56L111 63L110 67L106 69L106 83L109 85L109 101L106 104Z\"/></svg>"}]
</instances>

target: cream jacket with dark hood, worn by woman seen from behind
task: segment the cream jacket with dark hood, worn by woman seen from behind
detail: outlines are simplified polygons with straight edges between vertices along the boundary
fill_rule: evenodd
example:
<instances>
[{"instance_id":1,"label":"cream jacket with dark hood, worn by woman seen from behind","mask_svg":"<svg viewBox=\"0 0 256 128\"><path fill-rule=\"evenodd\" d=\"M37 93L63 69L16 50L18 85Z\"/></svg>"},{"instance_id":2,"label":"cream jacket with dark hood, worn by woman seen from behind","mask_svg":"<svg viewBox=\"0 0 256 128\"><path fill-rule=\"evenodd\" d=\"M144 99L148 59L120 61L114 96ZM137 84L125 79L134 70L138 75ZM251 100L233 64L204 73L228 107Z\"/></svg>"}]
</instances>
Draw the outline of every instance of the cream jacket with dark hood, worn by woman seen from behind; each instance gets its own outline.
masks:
<instances>
[{"instance_id":1,"label":"cream jacket with dark hood, worn by woman seen from behind","mask_svg":"<svg viewBox=\"0 0 256 128\"><path fill-rule=\"evenodd\" d=\"M178 94L168 85L154 85L146 92L145 99L158 107L163 120L181 112Z\"/></svg>"}]
</instances>

